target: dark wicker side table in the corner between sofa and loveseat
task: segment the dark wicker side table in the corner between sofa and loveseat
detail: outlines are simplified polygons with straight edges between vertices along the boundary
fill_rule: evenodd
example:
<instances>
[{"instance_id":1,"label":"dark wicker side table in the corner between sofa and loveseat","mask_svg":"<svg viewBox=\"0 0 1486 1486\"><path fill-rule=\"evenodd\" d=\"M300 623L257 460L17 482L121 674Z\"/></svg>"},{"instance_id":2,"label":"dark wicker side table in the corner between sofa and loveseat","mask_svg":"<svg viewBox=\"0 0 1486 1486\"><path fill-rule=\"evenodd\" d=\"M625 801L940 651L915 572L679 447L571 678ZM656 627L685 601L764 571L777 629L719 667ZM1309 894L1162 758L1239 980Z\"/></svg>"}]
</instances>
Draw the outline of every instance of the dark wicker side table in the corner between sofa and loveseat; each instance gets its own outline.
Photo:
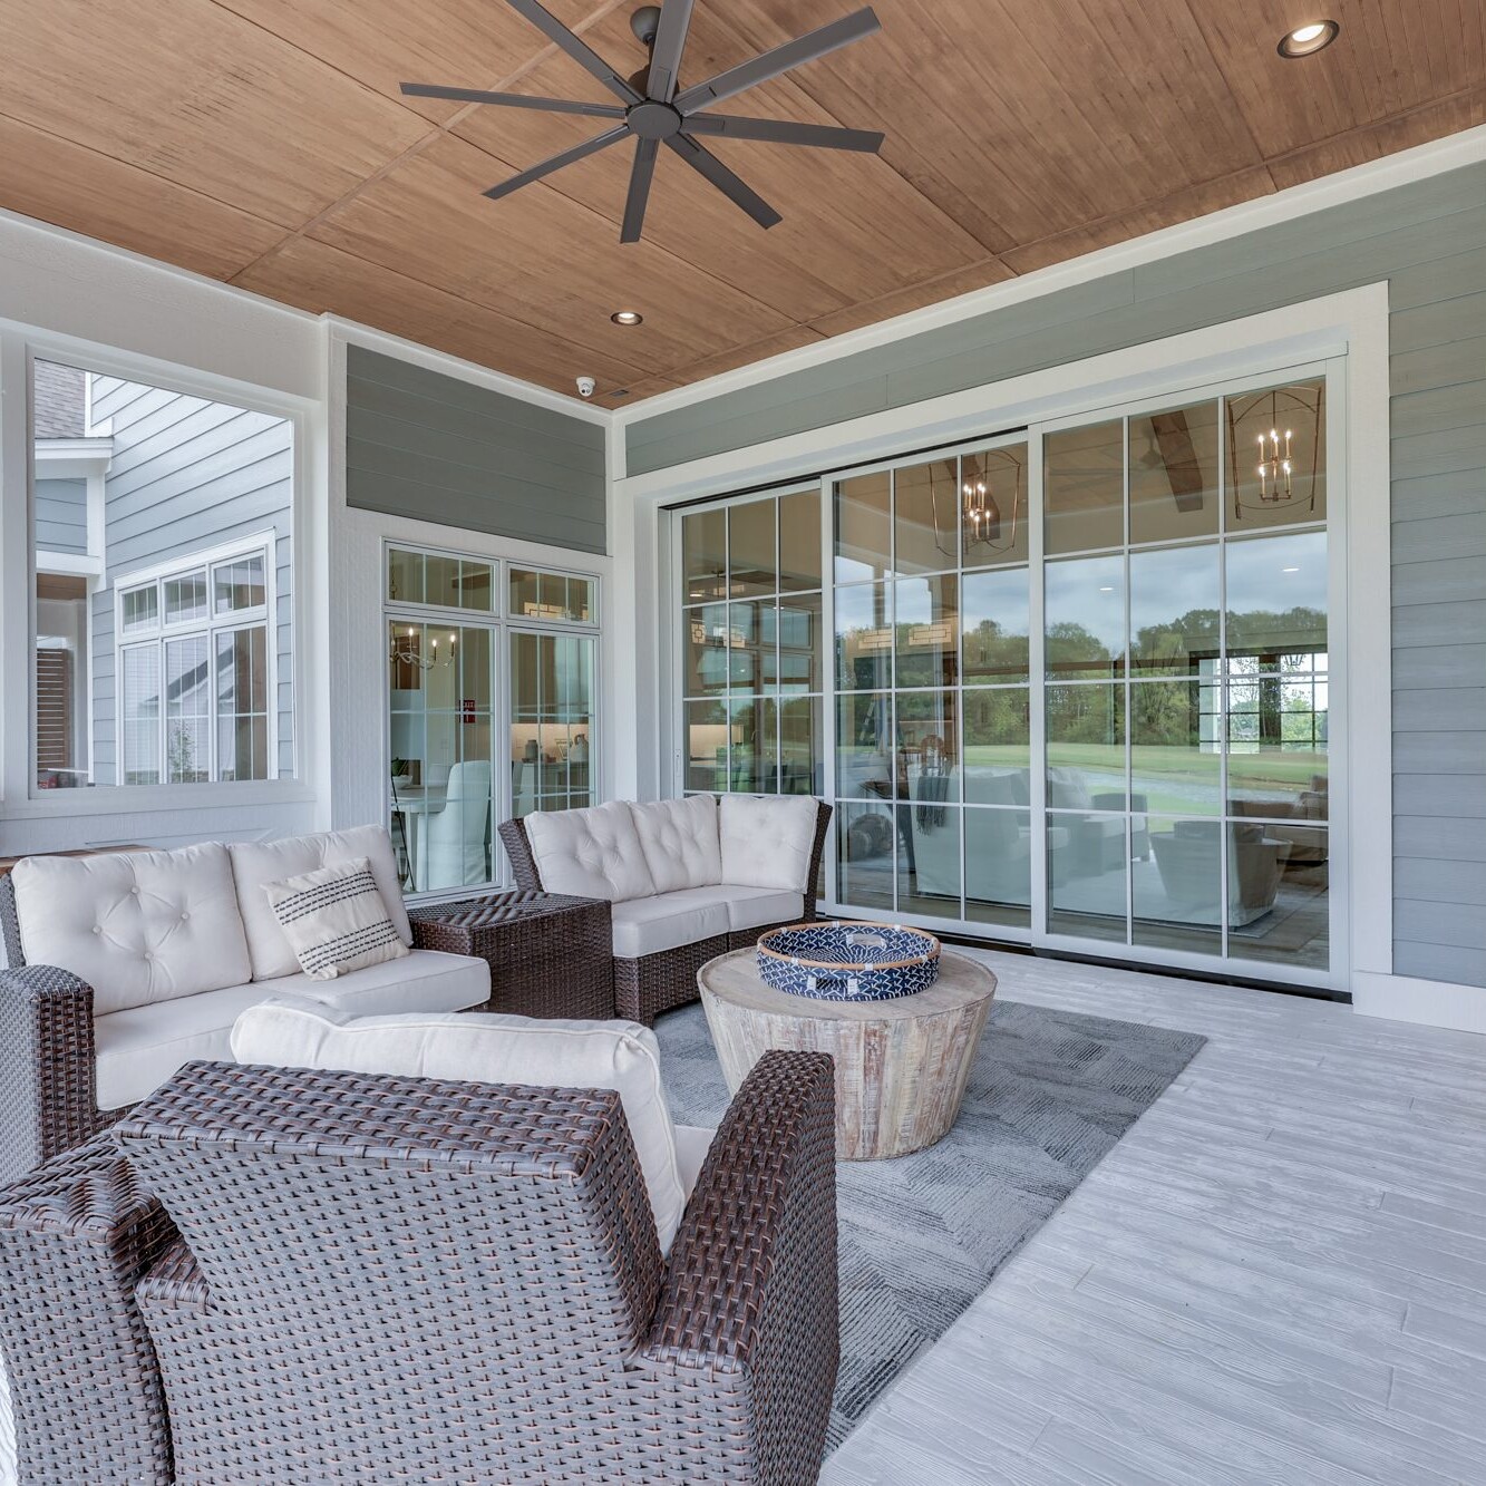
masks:
<instances>
[{"instance_id":1,"label":"dark wicker side table in the corner between sofa and loveseat","mask_svg":"<svg viewBox=\"0 0 1486 1486\"><path fill-rule=\"evenodd\" d=\"M473 954L490 966L484 1012L614 1016L609 905L519 889L410 908L419 950Z\"/></svg>"}]
</instances>

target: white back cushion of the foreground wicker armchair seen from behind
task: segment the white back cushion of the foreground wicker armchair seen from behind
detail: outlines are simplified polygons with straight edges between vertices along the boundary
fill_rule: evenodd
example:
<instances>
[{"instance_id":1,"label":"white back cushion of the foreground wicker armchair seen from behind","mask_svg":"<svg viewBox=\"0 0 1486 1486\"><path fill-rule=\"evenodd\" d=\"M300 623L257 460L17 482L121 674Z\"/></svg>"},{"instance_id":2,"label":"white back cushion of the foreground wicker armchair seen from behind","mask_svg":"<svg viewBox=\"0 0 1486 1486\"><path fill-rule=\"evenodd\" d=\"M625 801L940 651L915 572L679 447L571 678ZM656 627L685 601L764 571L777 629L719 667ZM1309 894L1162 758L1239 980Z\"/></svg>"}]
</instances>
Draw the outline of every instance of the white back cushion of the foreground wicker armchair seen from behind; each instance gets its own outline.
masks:
<instances>
[{"instance_id":1,"label":"white back cushion of the foreground wicker armchair seen from behind","mask_svg":"<svg viewBox=\"0 0 1486 1486\"><path fill-rule=\"evenodd\" d=\"M531 1088L617 1089L635 1140L661 1248L687 1205L655 1034L636 1022L467 1016L346 1018L299 1000L244 1012L232 1034L239 1062L343 1068Z\"/></svg>"}]
</instances>

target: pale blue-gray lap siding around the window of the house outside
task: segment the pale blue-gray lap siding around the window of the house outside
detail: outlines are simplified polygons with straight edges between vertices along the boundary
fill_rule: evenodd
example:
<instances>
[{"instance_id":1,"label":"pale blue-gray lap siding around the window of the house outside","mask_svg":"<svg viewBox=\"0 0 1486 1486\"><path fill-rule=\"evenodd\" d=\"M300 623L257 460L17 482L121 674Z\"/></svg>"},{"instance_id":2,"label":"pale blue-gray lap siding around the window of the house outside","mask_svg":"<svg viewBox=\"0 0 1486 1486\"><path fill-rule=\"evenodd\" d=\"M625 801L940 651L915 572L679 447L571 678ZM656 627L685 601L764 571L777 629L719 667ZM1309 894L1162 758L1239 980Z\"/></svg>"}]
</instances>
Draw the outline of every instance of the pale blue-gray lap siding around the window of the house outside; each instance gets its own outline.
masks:
<instances>
[{"instance_id":1,"label":"pale blue-gray lap siding around the window of the house outside","mask_svg":"<svg viewBox=\"0 0 1486 1486\"><path fill-rule=\"evenodd\" d=\"M95 376L94 422L113 421L104 484L107 587L94 596L94 779L117 758L113 590L156 568L259 532L275 533L279 771L294 771L293 426L282 418Z\"/></svg>"}]
</instances>

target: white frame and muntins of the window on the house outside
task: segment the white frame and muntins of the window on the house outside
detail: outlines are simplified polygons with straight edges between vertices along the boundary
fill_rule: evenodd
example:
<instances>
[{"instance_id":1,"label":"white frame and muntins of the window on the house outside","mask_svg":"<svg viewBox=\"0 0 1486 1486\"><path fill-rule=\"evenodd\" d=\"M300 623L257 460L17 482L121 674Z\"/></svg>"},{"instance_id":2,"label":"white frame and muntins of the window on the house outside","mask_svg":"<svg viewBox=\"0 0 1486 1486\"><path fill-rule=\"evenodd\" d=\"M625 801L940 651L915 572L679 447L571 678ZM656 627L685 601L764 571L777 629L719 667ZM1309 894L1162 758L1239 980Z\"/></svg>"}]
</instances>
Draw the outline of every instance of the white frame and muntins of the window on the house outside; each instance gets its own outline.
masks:
<instances>
[{"instance_id":1,"label":"white frame and muntins of the window on the house outside","mask_svg":"<svg viewBox=\"0 0 1486 1486\"><path fill-rule=\"evenodd\" d=\"M199 789L204 785L263 785L272 783L279 777L279 707L278 707L278 636L275 630L276 614L278 614L278 585L276 585L276 553L278 553L278 533L272 529L256 532L253 536L241 538L235 542L223 542L217 547L207 547L201 551L184 554L166 563L153 563L149 568L137 568L126 574L117 574L113 581L113 635L114 635L114 785L120 789L147 789L147 785L125 785L123 783L123 737L125 737L125 716L123 716L123 655L126 651L141 649L144 646L155 646L159 654L159 676L160 676L160 747L159 747L159 764L160 777L158 780L160 788L181 789L192 788ZM263 560L263 603L256 603L248 609L229 609L226 614L215 612L214 603L214 581L215 569L232 562L241 562L245 557L262 557ZM195 572L205 572L207 575L207 614L202 618L192 620L177 620L174 624L168 623L165 618L165 584L174 578L186 578ZM155 606L155 623L150 627L140 627L129 633L123 629L123 599L125 594L138 593L141 588L156 590L156 606ZM267 749L269 749L269 774L266 779L220 779L218 768L220 761L217 756L218 749L218 716L215 703L215 685L210 688L211 695L211 725L208 728L210 742L210 762L208 762L208 777L204 780L172 780L169 774L169 743L166 740L166 715L165 715L165 646L172 640L196 639L198 636L207 640L207 663L208 670L215 675L215 640L218 635L236 633L238 630L263 627L265 632L265 660L267 664L267 684L266 684L266 698L267 698Z\"/></svg>"}]
</instances>

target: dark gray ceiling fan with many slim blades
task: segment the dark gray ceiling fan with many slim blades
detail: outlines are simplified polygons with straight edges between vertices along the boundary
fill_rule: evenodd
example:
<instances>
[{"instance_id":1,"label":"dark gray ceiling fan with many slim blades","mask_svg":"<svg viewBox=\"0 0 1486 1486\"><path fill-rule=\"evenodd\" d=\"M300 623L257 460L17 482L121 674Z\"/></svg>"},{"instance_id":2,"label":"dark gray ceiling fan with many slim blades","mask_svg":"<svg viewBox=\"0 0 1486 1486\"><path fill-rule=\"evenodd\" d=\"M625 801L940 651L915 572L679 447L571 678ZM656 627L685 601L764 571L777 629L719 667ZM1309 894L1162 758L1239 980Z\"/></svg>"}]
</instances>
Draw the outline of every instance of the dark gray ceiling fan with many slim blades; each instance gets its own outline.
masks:
<instances>
[{"instance_id":1,"label":"dark gray ceiling fan with many slim blades","mask_svg":"<svg viewBox=\"0 0 1486 1486\"><path fill-rule=\"evenodd\" d=\"M630 19L635 34L649 48L651 59L633 77L623 77L603 61L583 37L568 30L550 15L538 0L507 0L513 10L532 22L580 67L591 73L618 97L618 104L580 103L568 98L532 98L526 94L481 92L476 88L444 88L437 83L403 83L403 92L413 98L450 98L459 103L489 103L505 108L536 108L545 113L574 113L588 119L617 119L618 123L596 134L571 150L563 150L520 175L513 175L484 195L498 201L553 171L572 165L588 155L597 155L611 144L633 138L635 165L630 169L630 192L624 204L621 242L639 242L645 226L651 180L660 146L679 155L694 171L712 181L730 201L746 211L761 227L773 227L783 220L777 211L746 181L727 168L704 144L703 138L765 140L771 144L808 144L826 150L859 150L875 153L883 135L872 129L843 129L834 125L791 123L785 119L742 119L733 114L704 113L707 106L724 103L747 88L779 77L802 62L811 62L841 46L871 36L881 22L871 6L832 21L816 31L785 42L773 51L755 56L739 67L730 67L716 77L691 88L681 86L681 53L687 45L691 12L695 0L664 0L660 6L645 6Z\"/></svg>"}]
</instances>

